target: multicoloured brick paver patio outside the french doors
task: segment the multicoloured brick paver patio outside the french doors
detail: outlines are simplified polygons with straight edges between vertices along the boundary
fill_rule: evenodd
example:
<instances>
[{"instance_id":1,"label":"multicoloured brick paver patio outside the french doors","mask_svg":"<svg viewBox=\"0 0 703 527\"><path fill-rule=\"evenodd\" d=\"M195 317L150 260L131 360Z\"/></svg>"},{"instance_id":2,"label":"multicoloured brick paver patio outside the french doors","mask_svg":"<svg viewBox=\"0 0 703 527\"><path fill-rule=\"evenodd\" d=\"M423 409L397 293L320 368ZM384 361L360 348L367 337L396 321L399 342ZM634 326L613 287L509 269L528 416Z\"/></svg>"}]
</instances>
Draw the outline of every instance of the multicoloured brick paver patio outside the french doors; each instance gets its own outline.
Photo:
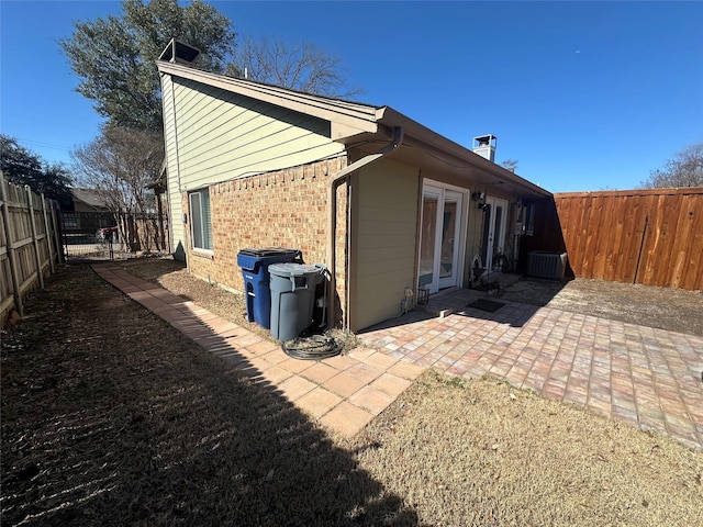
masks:
<instances>
[{"instance_id":1,"label":"multicoloured brick paver patio outside the french doors","mask_svg":"<svg viewBox=\"0 0 703 527\"><path fill-rule=\"evenodd\" d=\"M501 301L496 313L422 313L359 335L369 347L467 379L490 375L703 447L703 338Z\"/></svg>"}]
</instances>

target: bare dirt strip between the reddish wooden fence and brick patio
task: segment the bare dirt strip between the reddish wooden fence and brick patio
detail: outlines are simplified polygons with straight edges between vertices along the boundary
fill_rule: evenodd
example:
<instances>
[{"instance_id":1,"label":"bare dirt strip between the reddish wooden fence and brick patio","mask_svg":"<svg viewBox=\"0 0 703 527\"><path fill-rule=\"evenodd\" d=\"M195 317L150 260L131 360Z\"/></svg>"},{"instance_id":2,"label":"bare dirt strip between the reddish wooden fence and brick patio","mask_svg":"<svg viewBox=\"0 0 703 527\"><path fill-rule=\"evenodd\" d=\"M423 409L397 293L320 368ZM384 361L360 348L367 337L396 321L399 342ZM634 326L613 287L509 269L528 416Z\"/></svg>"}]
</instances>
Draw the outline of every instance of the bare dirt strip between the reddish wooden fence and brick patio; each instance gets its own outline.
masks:
<instances>
[{"instance_id":1,"label":"bare dirt strip between the reddish wooden fence and brick patio","mask_svg":"<svg viewBox=\"0 0 703 527\"><path fill-rule=\"evenodd\" d=\"M503 300L703 336L703 293L602 280L521 280Z\"/></svg>"}]
</instances>

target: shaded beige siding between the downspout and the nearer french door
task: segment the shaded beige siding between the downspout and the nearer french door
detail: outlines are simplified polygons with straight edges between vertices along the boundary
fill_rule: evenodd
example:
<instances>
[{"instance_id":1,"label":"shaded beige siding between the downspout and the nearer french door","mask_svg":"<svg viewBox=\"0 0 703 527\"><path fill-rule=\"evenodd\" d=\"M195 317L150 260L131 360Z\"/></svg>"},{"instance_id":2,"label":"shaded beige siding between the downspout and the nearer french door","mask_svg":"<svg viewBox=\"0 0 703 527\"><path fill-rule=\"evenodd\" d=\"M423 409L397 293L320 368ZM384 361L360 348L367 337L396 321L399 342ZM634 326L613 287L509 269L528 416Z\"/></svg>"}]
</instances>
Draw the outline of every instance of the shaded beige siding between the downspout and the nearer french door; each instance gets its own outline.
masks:
<instances>
[{"instance_id":1,"label":"shaded beige siding between the downspout and the nearer french door","mask_svg":"<svg viewBox=\"0 0 703 527\"><path fill-rule=\"evenodd\" d=\"M352 329L395 316L414 289L417 259L416 168L383 159L355 178Z\"/></svg>"}]
</instances>

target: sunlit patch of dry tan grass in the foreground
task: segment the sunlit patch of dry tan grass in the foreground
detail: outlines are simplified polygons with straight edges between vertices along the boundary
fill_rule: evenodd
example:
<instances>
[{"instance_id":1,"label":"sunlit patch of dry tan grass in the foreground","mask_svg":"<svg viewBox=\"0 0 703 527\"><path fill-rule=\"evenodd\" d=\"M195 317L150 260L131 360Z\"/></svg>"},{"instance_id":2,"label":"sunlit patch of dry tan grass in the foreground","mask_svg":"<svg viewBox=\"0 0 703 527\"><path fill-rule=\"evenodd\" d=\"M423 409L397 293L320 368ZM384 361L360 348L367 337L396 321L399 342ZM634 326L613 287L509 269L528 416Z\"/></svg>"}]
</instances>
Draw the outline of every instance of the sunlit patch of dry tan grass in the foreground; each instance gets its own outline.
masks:
<instances>
[{"instance_id":1,"label":"sunlit patch of dry tan grass in the foreground","mask_svg":"<svg viewBox=\"0 0 703 527\"><path fill-rule=\"evenodd\" d=\"M701 452L499 381L427 374L364 439L423 525L703 525Z\"/></svg>"}]
</instances>

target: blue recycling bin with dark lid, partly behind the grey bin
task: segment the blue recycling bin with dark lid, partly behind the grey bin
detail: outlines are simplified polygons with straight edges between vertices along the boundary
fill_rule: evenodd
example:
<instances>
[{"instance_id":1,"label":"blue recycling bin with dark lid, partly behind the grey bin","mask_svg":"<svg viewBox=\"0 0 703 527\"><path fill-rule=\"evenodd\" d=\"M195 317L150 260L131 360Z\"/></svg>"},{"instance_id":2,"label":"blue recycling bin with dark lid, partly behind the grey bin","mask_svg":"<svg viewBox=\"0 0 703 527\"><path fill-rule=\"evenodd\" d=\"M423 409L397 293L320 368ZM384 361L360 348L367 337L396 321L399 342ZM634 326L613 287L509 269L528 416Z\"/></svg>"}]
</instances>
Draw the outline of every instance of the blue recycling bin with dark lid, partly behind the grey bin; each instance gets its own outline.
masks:
<instances>
[{"instance_id":1,"label":"blue recycling bin with dark lid, partly behind the grey bin","mask_svg":"<svg viewBox=\"0 0 703 527\"><path fill-rule=\"evenodd\" d=\"M265 247L242 249L237 254L237 266L242 268L246 317L268 329L271 327L271 292L269 289L271 264L292 262L301 259L299 249Z\"/></svg>"}]
</instances>

